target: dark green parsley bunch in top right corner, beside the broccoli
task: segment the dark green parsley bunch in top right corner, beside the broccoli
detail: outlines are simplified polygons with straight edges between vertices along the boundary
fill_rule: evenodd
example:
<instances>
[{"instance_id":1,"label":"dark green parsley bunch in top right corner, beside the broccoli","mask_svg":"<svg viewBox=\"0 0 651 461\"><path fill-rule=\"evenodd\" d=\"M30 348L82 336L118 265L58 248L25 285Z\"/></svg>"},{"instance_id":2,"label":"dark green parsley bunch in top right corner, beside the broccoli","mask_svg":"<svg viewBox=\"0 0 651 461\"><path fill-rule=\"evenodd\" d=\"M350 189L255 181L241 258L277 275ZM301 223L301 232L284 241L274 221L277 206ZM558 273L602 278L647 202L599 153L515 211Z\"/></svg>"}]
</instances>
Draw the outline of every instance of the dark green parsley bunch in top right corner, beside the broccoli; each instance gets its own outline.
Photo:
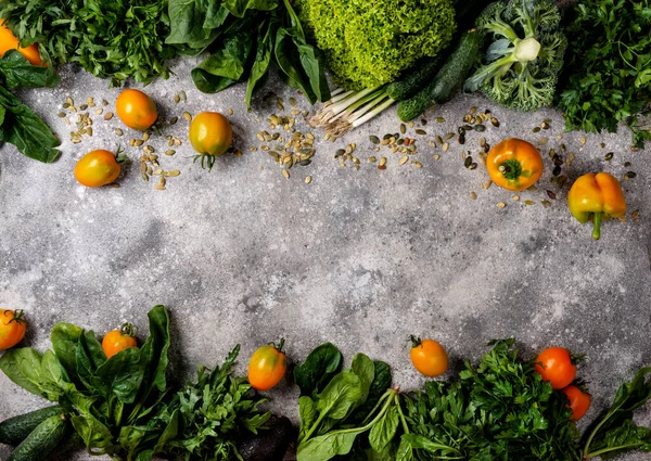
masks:
<instances>
[{"instance_id":1,"label":"dark green parsley bunch in top right corner, beside the broccoli","mask_svg":"<svg viewBox=\"0 0 651 461\"><path fill-rule=\"evenodd\" d=\"M569 15L567 66L558 105L567 129L617 131L651 140L651 1L586 0Z\"/></svg>"}]
</instances>

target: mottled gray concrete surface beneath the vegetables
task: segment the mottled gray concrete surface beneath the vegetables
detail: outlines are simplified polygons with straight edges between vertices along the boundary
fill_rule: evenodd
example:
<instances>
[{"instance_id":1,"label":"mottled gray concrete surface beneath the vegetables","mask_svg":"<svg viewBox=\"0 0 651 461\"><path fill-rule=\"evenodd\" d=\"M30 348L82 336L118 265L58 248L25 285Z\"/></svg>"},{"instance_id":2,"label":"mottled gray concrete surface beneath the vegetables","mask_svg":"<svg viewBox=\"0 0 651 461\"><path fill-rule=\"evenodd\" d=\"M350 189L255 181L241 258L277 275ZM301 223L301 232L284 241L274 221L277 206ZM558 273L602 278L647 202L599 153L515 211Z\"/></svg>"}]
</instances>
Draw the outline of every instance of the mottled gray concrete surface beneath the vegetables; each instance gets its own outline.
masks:
<instances>
[{"instance_id":1,"label":"mottled gray concrete surface beneath the vegetables","mask_svg":"<svg viewBox=\"0 0 651 461\"><path fill-rule=\"evenodd\" d=\"M373 152L369 135L398 131L390 110L335 143L310 130L318 153L308 167L293 168L288 180L269 155L250 151L261 144L256 133L269 130L265 118L279 113L276 103L258 98L247 113L242 86L201 94L189 77L192 64L177 63L177 76L146 91L167 119L184 111L232 108L243 155L219 158L208 172L192 164L191 148L183 143L175 156L162 155L163 168L181 170L165 191L140 178L137 162L119 179L119 189L91 190L75 181L73 169L84 153L124 146L138 136L122 127L125 136L118 139L117 118L105 121L91 113L94 136L69 142L71 129L56 116L65 98L77 105L88 97L113 104L118 90L107 90L106 81L67 67L56 89L24 94L63 141L63 155L53 165L25 158L10 145L0 150L0 306L27 312L24 345L48 348L58 321L100 334L124 321L144 329L146 311L164 304L173 316L173 373L179 380L191 377L197 363L220 361L237 343L245 363L257 346L284 336L291 360L332 341L348 358L363 351L386 360L396 384L416 388L424 380L410 366L409 334L438 340L456 364L478 359L490 338L514 336L526 357L550 345L587 355L579 373L595 398L586 423L624 380L651 364L651 167L647 151L629 150L625 130L585 136L582 145L584 135L564 133L562 116L551 110L509 113L464 95L431 112L425 127L417 124L413 129L426 130L426 137L408 131L418 139L414 159L422 168L399 166L399 155L388 151ZM173 101L180 90L188 94L186 104ZM284 98L286 112L293 108L288 101L295 91L276 79L267 90ZM297 99L299 108L309 108ZM500 127L470 133L463 148L452 141L445 153L427 145L433 136L456 130L473 105L492 108ZM437 124L435 117L447 121ZM551 129L533 133L547 117ZM187 127L181 119L164 135L186 141ZM297 129L309 130L303 121ZM481 136L490 144L514 136L532 142L547 137L538 190L520 193L520 201L496 187L483 190L485 168L469 170L461 158L463 149L476 158ZM333 159L353 142L358 171ZM549 182L553 165L547 152L560 151L561 143L575 161L563 166L570 180L558 188ZM159 137L150 144L158 153L168 149ZM137 148L126 152L138 161ZM611 162L603 159L608 152L614 153ZM369 164L371 155L386 155L387 169ZM627 221L607 222L595 242L590 228L571 217L566 193L574 178L602 169L637 177L624 183ZM304 182L308 175L310 184ZM498 208L499 202L507 206ZM289 381L269 396L277 411L297 417L296 389ZM0 375L0 419L43 405ZM640 409L638 419L651 424L651 407ZM0 447L0 457L7 453Z\"/></svg>"}]
</instances>

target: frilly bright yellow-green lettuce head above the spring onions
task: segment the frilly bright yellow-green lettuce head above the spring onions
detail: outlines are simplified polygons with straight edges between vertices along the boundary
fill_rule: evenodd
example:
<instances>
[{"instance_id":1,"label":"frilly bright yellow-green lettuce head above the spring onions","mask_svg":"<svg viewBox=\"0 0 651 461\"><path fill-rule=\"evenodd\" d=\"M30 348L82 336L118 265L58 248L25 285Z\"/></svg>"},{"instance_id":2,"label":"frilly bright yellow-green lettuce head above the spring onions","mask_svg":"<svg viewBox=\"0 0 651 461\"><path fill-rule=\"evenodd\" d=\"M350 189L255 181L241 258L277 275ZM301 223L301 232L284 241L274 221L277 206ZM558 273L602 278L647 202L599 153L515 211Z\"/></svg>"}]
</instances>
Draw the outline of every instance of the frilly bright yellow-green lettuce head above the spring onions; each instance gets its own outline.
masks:
<instances>
[{"instance_id":1,"label":"frilly bright yellow-green lettuce head above the spring onions","mask_svg":"<svg viewBox=\"0 0 651 461\"><path fill-rule=\"evenodd\" d=\"M299 16L324 51L337 85L359 90L393 81L435 56L455 33L451 0L302 0Z\"/></svg>"}]
</instances>

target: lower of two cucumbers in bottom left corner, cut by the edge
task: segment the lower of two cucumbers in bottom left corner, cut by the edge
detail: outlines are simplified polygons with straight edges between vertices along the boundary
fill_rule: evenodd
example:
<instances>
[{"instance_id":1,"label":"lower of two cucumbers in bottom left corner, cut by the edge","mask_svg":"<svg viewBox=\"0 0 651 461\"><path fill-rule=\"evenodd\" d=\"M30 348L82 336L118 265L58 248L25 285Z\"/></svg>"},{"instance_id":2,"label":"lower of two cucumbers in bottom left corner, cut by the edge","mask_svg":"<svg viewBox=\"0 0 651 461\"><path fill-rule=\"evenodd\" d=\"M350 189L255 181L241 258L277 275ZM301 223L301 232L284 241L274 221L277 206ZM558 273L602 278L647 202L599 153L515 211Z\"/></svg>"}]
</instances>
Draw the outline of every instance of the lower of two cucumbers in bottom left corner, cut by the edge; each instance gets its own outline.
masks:
<instances>
[{"instance_id":1,"label":"lower of two cucumbers in bottom left corner, cut by the edge","mask_svg":"<svg viewBox=\"0 0 651 461\"><path fill-rule=\"evenodd\" d=\"M43 461L63 440L67 422L61 417L50 417L40 423L25 440L16 447L7 461Z\"/></svg>"}]
</instances>

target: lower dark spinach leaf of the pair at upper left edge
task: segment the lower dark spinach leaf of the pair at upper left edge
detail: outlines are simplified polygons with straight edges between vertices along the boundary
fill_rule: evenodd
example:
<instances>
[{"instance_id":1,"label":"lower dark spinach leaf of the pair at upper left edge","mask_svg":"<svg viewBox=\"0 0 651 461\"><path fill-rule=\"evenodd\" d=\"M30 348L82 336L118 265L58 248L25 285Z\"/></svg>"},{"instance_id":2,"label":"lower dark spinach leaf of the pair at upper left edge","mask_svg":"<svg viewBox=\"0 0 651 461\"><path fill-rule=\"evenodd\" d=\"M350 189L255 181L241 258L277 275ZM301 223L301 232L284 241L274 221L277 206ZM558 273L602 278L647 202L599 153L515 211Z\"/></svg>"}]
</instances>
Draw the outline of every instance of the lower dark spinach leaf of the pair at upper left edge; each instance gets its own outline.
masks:
<instances>
[{"instance_id":1,"label":"lower dark spinach leaf of the pair at upper left edge","mask_svg":"<svg viewBox=\"0 0 651 461\"><path fill-rule=\"evenodd\" d=\"M51 163L59 156L60 142L43 120L27 105L0 86L0 106L4 117L0 125L0 141L15 145L23 155Z\"/></svg>"}]
</instances>

